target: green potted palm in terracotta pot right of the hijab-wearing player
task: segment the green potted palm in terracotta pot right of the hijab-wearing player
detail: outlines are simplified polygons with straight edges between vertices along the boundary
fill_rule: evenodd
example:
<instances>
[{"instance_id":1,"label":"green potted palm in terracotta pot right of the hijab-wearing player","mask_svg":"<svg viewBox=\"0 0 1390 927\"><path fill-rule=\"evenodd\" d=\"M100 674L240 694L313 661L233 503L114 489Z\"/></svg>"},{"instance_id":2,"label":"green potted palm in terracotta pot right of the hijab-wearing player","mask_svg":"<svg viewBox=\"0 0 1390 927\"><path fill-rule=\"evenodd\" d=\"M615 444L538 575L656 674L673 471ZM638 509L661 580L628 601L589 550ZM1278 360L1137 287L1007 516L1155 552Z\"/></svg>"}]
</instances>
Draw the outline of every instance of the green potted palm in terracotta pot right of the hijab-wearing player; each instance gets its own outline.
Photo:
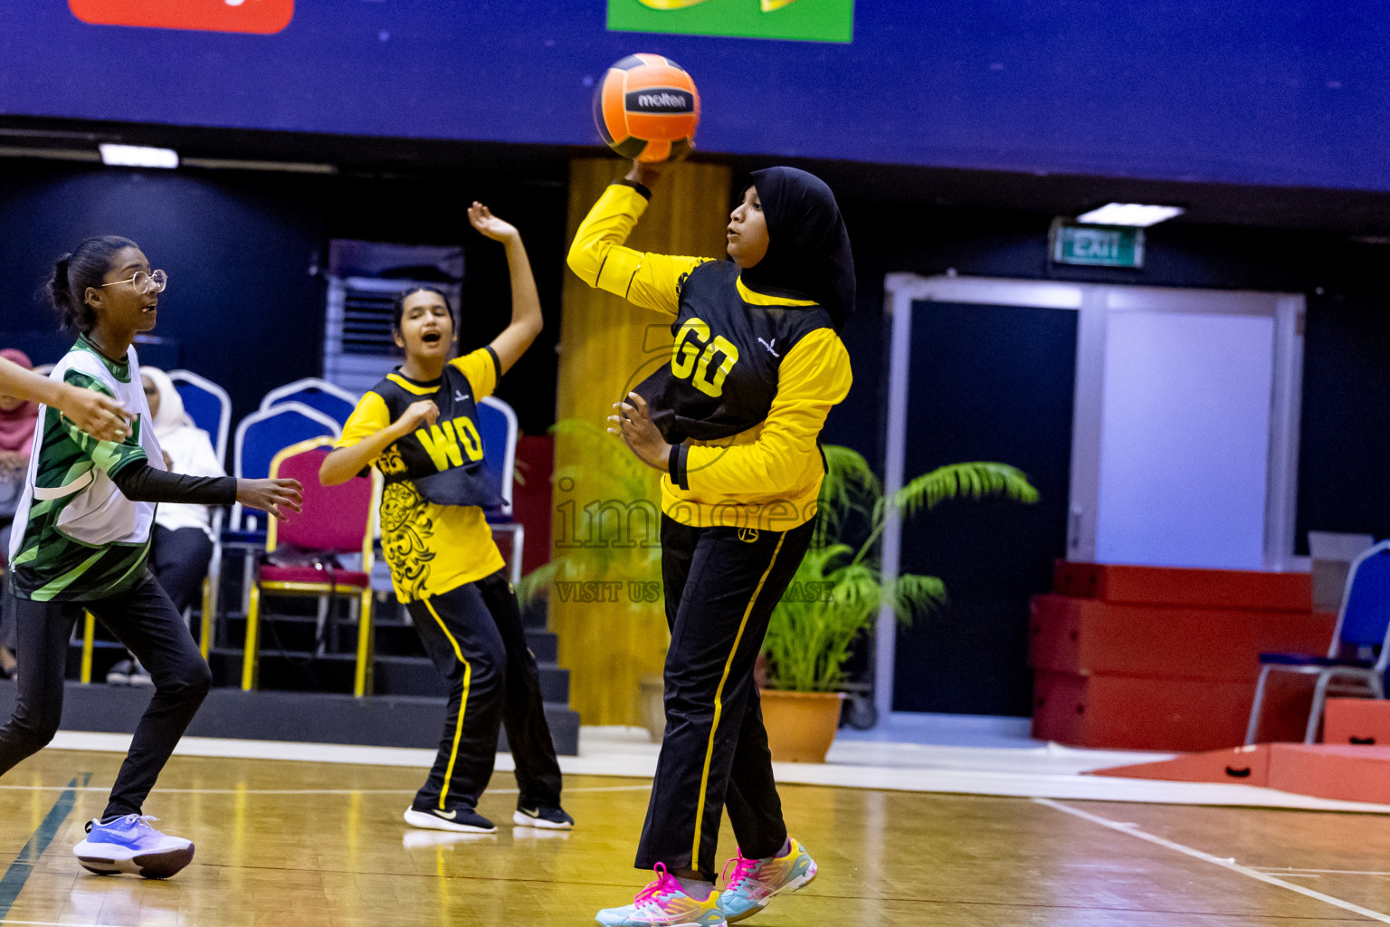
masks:
<instances>
[{"instance_id":1,"label":"green potted palm in terracotta pot right of the hijab-wearing player","mask_svg":"<svg viewBox=\"0 0 1390 927\"><path fill-rule=\"evenodd\" d=\"M910 518L949 499L1037 502L1027 477L1001 463L938 467L888 499L859 453L837 445L824 452L820 521L763 641L763 721L773 759L783 762L824 762L840 724L845 663L883 605L906 624L945 600L937 577L909 573L884 581L880 541L888 506ZM858 546L849 542L859 535Z\"/></svg>"}]
</instances>

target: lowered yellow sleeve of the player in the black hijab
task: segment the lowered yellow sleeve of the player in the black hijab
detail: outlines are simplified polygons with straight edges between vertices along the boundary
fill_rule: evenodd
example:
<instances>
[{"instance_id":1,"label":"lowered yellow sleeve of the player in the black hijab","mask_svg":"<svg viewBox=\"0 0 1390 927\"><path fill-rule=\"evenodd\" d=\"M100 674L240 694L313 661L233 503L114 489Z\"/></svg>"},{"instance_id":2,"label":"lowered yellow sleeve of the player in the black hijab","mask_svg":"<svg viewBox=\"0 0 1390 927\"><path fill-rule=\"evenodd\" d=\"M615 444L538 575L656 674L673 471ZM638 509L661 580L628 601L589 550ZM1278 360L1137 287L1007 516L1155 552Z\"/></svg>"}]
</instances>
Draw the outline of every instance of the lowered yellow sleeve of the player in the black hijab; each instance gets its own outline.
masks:
<instances>
[{"instance_id":1,"label":"lowered yellow sleeve of the player in the black hijab","mask_svg":"<svg viewBox=\"0 0 1390 927\"><path fill-rule=\"evenodd\" d=\"M701 495L776 496L796 489L831 406L849 393L849 352L830 328L819 328L787 352L777 396L758 441L731 448L681 445L671 479Z\"/></svg>"}]
</instances>

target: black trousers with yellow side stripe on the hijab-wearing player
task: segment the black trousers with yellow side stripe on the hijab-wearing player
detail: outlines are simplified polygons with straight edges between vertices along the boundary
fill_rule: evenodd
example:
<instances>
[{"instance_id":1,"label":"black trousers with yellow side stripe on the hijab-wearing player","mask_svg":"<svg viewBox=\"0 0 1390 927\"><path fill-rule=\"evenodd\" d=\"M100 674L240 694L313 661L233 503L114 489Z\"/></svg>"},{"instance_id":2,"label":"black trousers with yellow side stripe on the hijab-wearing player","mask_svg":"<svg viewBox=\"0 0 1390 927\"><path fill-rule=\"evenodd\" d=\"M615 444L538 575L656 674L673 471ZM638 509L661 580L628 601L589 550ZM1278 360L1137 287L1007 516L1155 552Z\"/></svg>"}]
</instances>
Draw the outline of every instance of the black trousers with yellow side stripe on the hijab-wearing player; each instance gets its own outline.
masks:
<instances>
[{"instance_id":1,"label":"black trousers with yellow side stripe on the hijab-wearing player","mask_svg":"<svg viewBox=\"0 0 1390 927\"><path fill-rule=\"evenodd\" d=\"M787 841L753 663L816 520L791 531L691 528L662 516L666 737L637 867L714 881L724 807L749 859Z\"/></svg>"}]
</instances>

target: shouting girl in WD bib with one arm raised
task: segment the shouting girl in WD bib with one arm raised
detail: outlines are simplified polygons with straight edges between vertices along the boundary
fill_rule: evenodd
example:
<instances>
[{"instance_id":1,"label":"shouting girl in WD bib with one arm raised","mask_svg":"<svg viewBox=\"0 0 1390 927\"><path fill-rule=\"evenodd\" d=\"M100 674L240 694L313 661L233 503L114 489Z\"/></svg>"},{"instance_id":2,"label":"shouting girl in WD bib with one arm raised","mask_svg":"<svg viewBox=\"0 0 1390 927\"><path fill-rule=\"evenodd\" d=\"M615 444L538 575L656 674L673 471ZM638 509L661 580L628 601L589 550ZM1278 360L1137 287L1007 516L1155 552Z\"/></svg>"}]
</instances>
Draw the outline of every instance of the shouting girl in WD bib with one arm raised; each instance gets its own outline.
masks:
<instances>
[{"instance_id":1,"label":"shouting girl in WD bib with one arm raised","mask_svg":"<svg viewBox=\"0 0 1390 927\"><path fill-rule=\"evenodd\" d=\"M452 682L439 752L406 823L493 832L477 805L505 724L520 787L513 821L569 830L574 819L560 807L539 671L484 516L500 502L484 452L502 449L484 449L475 406L541 332L541 300L517 229L481 203L468 208L468 221L506 246L512 324L488 346L449 360L457 327L443 293L427 286L403 293L392 327L406 361L361 397L318 478L335 485L368 466L381 471L381 546L396 598Z\"/></svg>"}]
</instances>

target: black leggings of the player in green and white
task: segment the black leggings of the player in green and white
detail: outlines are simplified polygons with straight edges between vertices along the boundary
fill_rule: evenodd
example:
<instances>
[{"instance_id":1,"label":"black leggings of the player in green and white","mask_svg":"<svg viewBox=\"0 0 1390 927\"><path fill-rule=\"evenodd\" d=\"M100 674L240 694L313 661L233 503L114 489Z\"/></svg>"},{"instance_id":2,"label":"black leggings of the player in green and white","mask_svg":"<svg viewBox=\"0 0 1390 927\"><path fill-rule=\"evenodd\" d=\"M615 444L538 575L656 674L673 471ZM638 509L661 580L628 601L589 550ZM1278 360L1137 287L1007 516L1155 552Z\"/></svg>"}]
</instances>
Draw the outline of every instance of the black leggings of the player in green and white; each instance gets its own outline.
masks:
<instances>
[{"instance_id":1,"label":"black leggings of the player in green and white","mask_svg":"<svg viewBox=\"0 0 1390 927\"><path fill-rule=\"evenodd\" d=\"M19 692L14 717L0 728L0 776L43 749L57 732L68 639L78 617L88 610L154 680L154 698L135 728L131 752L101 817L140 814L154 780L213 685L213 674L183 617L149 574L133 588L95 602L10 600L17 605Z\"/></svg>"}]
</instances>

